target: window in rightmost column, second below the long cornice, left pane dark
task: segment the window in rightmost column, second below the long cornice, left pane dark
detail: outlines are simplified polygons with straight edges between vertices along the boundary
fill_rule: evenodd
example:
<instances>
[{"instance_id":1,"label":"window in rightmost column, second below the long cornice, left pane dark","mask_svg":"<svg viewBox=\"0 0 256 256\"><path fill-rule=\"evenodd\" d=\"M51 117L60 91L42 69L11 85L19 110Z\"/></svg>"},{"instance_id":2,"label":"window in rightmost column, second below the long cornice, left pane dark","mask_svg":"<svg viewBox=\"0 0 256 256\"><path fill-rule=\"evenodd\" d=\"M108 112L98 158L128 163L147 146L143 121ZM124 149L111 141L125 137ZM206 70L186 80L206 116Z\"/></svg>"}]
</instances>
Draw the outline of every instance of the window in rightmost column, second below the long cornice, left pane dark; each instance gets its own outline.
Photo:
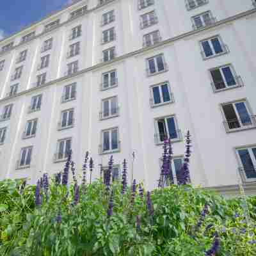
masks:
<instances>
[{"instance_id":1,"label":"window in rightmost column, second below the long cornice, left pane dark","mask_svg":"<svg viewBox=\"0 0 256 256\"><path fill-rule=\"evenodd\" d=\"M210 70L212 87L215 92L242 86L241 77L236 76L231 65L213 68Z\"/></svg>"}]
</instances>

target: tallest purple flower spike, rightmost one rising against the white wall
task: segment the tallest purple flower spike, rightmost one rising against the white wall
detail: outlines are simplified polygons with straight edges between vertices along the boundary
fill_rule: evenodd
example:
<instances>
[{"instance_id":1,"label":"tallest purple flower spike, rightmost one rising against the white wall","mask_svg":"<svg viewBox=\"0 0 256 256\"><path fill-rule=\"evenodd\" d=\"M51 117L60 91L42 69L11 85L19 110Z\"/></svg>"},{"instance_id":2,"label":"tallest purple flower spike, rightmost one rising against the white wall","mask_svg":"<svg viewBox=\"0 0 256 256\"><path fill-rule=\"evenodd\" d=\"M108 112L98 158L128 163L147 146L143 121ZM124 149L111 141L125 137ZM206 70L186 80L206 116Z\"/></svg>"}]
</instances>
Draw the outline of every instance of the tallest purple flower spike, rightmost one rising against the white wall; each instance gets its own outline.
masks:
<instances>
[{"instance_id":1,"label":"tallest purple flower spike, rightmost one rising against the white wall","mask_svg":"<svg viewBox=\"0 0 256 256\"><path fill-rule=\"evenodd\" d=\"M190 148L192 147L190 145L190 143L191 143L190 137L191 137L191 135L188 131L188 133L186 135L186 152L185 152L185 157L184 157L184 163L183 163L183 166L180 169L179 173L177 174L177 179L178 179L179 185L186 185L190 182L190 175L189 175L189 169L188 169L189 157L191 156Z\"/></svg>"}]
</instances>

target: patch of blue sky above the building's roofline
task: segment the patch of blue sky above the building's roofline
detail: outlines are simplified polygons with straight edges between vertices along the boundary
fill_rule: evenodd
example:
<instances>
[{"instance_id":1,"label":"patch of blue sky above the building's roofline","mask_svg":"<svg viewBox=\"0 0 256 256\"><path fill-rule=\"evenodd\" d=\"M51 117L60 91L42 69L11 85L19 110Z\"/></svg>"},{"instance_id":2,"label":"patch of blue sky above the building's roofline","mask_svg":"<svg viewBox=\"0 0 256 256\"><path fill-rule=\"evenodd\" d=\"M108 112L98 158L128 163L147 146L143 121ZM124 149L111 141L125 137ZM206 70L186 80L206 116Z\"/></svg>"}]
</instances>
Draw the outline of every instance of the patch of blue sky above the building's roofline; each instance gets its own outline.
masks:
<instances>
[{"instance_id":1,"label":"patch of blue sky above the building's roofline","mask_svg":"<svg viewBox=\"0 0 256 256\"><path fill-rule=\"evenodd\" d=\"M0 39L70 2L71 0L1 0Z\"/></svg>"}]
</instances>

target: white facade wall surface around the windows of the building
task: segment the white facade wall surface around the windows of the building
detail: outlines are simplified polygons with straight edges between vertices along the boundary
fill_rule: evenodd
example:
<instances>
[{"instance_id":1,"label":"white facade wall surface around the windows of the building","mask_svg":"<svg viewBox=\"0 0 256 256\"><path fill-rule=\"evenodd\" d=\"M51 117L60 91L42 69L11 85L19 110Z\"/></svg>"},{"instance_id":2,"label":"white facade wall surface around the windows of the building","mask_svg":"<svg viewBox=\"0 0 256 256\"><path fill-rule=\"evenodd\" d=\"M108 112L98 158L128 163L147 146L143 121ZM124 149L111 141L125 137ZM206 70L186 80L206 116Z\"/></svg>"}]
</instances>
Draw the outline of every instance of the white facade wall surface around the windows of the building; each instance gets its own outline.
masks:
<instances>
[{"instance_id":1,"label":"white facade wall surface around the windows of the building","mask_svg":"<svg viewBox=\"0 0 256 256\"><path fill-rule=\"evenodd\" d=\"M64 162L54 163L57 141L72 138L72 150L77 169L81 170L83 157L89 150L95 160L93 179L99 177L99 166L108 165L111 154L99 154L102 143L101 131L118 127L120 150L113 153L115 164L129 162L134 151L134 179L145 182L148 189L157 186L159 157L162 147L156 145L154 134L156 118L175 115L182 140L173 143L175 156L184 155L184 134L189 129L193 139L191 157L191 180L205 187L230 188L236 186L241 166L236 155L237 147L256 145L256 129L227 133L223 125L225 116L221 104L246 99L250 114L256 114L256 10L252 0L209 0L207 4L187 10L184 1L154 0L152 6L138 10L138 0L113 0L97 6L97 1L79 1L29 28L0 42L0 47L15 42L12 51L0 53L5 60L0 71L0 113L4 106L13 104L10 120L0 122L0 129L7 127L6 139L0 145L0 179L29 178L31 183L44 172L56 173ZM69 13L88 5L88 12L68 21ZM102 14L114 10L115 21L100 26ZM140 28L140 15L155 10L158 23ZM216 24L193 31L191 17L211 11ZM44 33L44 25L60 19L60 26ZM82 35L69 40L70 31L82 26ZM102 31L115 28L116 40L101 44ZM20 44L20 38L36 31L35 39ZM159 30L162 41L154 47L143 48L143 35ZM203 60L200 40L219 35L229 52L209 60ZM53 38L52 49L40 51L45 40ZM70 44L80 42L78 56L67 58ZM102 63L102 51L116 48L117 58ZM28 49L26 60L16 64L19 52ZM49 67L36 70L40 58L51 54ZM147 58L163 54L168 71L147 76ZM78 60L79 72L65 76L67 63ZM231 64L244 86L222 92L214 92L209 69ZM10 81L16 67L23 65L22 76ZM102 74L116 70L118 86L100 90ZM47 72L47 83L35 88L36 75ZM65 77L64 77L65 76ZM174 102L157 108L150 107L150 86L168 81ZM76 100L61 103L64 86L77 83ZM17 95L6 97L12 84L19 83ZM31 97L42 94L40 111L28 113ZM99 120L101 101L118 97L120 114L115 118ZM61 111L74 108L74 127L58 131ZM38 118L36 136L22 139L26 122ZM29 168L16 169L20 149L33 146ZM253 184L253 179L249 180ZM248 186L248 184L246 184Z\"/></svg>"}]
</instances>

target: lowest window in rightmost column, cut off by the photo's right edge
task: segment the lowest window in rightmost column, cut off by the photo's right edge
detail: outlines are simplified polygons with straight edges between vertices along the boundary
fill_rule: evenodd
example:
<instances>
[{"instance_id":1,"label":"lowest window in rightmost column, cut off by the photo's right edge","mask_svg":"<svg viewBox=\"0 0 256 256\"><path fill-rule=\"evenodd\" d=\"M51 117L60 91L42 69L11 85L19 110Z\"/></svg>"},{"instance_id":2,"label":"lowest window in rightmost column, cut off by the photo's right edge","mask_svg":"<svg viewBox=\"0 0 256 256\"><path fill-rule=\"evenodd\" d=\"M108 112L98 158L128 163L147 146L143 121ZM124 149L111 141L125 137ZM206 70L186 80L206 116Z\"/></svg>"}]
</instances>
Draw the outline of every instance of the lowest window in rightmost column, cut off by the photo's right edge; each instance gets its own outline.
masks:
<instances>
[{"instance_id":1,"label":"lowest window in rightmost column, cut off by the photo's right edge","mask_svg":"<svg viewBox=\"0 0 256 256\"><path fill-rule=\"evenodd\" d=\"M241 166L239 170L244 181L256 179L256 146L239 148L236 152Z\"/></svg>"}]
</instances>

